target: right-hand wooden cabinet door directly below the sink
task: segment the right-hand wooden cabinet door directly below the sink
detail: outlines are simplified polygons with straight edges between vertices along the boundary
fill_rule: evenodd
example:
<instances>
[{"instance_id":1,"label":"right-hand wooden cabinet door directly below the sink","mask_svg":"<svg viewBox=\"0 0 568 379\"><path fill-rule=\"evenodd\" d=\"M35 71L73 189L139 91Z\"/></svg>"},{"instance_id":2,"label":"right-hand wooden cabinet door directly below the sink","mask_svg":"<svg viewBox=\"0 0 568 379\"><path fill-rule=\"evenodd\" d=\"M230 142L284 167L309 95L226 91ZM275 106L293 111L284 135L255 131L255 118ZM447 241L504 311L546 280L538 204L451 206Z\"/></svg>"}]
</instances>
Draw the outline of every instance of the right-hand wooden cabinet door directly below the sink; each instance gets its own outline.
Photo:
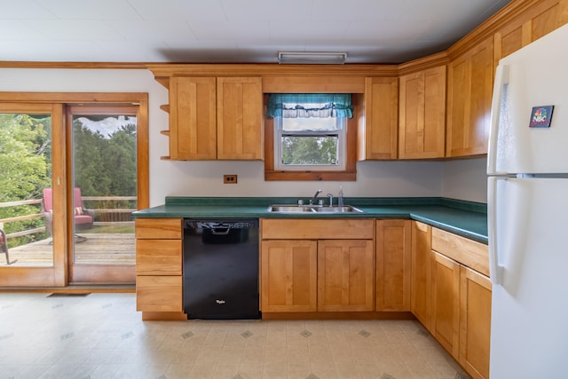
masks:
<instances>
[{"instance_id":1,"label":"right-hand wooden cabinet door directly below the sink","mask_svg":"<svg viewBox=\"0 0 568 379\"><path fill-rule=\"evenodd\" d=\"M318 242L318 311L375 309L373 240Z\"/></svg>"}]
</instances>

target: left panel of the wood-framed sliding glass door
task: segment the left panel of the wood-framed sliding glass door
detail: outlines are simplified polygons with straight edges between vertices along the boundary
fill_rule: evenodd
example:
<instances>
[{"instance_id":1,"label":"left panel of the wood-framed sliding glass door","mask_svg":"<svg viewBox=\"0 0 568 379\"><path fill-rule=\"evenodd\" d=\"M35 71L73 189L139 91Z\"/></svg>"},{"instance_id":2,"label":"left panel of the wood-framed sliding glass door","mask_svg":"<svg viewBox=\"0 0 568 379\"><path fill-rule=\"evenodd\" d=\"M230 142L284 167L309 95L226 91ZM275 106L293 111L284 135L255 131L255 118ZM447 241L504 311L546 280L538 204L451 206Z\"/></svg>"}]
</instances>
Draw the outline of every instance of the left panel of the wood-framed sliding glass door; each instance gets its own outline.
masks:
<instances>
[{"instance_id":1,"label":"left panel of the wood-framed sliding glass door","mask_svg":"<svg viewBox=\"0 0 568 379\"><path fill-rule=\"evenodd\" d=\"M60 121L60 106L0 104L0 287L64 282Z\"/></svg>"}]
</instances>

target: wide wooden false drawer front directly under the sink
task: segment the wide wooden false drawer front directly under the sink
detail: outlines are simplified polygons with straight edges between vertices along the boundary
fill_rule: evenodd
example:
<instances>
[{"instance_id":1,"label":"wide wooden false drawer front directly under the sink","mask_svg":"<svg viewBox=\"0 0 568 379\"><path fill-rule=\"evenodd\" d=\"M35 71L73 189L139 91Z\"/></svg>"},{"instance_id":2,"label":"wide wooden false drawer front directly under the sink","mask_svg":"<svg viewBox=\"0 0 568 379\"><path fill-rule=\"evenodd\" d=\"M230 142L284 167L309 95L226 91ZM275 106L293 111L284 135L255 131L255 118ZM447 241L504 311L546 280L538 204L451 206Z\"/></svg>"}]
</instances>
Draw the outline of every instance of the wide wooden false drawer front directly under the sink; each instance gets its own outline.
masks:
<instances>
[{"instance_id":1,"label":"wide wooden false drawer front directly under the sink","mask_svg":"<svg viewBox=\"0 0 568 379\"><path fill-rule=\"evenodd\" d=\"M375 220L262 219L264 240L372 240Z\"/></svg>"}]
</instances>

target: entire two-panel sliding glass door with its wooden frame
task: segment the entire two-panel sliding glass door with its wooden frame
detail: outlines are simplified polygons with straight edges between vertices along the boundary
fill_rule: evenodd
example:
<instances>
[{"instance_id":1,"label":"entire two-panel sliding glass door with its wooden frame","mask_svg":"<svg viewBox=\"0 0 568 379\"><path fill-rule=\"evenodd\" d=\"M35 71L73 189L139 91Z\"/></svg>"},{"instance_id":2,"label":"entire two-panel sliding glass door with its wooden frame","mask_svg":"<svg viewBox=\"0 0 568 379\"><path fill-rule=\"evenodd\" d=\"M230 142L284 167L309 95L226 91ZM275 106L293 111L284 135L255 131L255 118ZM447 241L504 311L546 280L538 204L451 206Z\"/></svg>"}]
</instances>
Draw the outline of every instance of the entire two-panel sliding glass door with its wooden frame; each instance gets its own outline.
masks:
<instances>
[{"instance_id":1,"label":"entire two-panel sliding glass door with its wooden frame","mask_svg":"<svg viewBox=\"0 0 568 379\"><path fill-rule=\"evenodd\" d=\"M142 92L0 93L0 287L135 282L147 110Z\"/></svg>"}]
</instances>

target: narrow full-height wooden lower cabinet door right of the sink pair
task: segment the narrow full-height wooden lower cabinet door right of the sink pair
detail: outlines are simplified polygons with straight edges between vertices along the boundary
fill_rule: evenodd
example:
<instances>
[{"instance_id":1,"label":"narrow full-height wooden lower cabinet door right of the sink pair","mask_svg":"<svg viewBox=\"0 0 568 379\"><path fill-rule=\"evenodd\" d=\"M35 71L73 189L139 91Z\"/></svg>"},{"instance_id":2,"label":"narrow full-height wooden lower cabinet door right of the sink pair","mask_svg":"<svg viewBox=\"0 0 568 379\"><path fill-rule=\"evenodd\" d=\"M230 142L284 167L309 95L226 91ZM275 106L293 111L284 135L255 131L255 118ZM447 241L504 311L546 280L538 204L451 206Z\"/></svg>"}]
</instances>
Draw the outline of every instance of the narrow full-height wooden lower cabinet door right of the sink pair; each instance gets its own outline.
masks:
<instances>
[{"instance_id":1,"label":"narrow full-height wooden lower cabinet door right of the sink pair","mask_svg":"<svg viewBox=\"0 0 568 379\"><path fill-rule=\"evenodd\" d=\"M376 221L376 311L410 311L410 223Z\"/></svg>"}]
</instances>

